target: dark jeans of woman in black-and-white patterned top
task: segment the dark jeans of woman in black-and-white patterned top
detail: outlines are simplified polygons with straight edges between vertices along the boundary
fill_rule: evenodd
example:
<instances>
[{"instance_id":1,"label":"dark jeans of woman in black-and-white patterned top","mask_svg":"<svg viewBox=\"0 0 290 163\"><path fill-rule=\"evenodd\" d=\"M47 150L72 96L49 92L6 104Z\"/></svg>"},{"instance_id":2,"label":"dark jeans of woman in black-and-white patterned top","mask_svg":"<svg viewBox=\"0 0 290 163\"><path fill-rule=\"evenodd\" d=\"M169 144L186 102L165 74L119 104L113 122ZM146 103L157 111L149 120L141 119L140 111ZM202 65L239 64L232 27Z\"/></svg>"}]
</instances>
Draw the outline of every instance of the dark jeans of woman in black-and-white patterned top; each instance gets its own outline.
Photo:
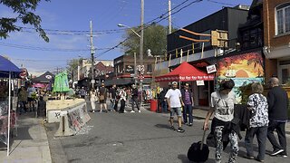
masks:
<instances>
[{"instance_id":1,"label":"dark jeans of woman in black-and-white patterned top","mask_svg":"<svg viewBox=\"0 0 290 163\"><path fill-rule=\"evenodd\" d=\"M267 126L263 126L263 127L247 129L246 137L245 137L245 145L246 145L248 157L254 157L253 139L254 139L254 136L256 135L256 140L257 140L258 149L259 149L257 158L260 160L265 159L267 128L268 128Z\"/></svg>"}]
</instances>

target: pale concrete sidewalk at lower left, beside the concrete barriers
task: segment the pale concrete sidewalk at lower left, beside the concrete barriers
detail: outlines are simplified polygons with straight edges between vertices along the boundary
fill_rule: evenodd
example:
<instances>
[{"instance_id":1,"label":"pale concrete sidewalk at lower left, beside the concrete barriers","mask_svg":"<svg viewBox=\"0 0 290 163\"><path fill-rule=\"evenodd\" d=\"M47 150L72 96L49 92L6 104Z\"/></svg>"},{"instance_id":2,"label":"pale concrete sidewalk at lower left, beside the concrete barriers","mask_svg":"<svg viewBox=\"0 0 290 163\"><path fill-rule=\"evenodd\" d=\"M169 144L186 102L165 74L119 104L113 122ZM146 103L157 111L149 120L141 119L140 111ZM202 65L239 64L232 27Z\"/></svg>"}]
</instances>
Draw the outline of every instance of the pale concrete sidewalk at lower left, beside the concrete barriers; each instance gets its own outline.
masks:
<instances>
[{"instance_id":1,"label":"pale concrete sidewalk at lower left, beside the concrete barriers","mask_svg":"<svg viewBox=\"0 0 290 163\"><path fill-rule=\"evenodd\" d=\"M10 155L1 145L0 162L51 163L51 153L42 119L34 118L33 113L19 116L18 135L11 139Z\"/></svg>"}]
</instances>

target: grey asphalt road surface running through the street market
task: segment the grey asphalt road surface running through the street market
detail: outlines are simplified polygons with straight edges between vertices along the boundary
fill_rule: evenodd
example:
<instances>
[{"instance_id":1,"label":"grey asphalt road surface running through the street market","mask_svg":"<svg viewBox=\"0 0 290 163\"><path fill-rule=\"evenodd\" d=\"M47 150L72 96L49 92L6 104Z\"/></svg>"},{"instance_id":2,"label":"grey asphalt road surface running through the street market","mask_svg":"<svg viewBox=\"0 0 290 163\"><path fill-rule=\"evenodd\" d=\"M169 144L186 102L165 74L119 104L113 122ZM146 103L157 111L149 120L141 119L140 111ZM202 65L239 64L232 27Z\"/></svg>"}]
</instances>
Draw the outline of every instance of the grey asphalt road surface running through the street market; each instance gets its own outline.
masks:
<instances>
[{"instance_id":1,"label":"grey asphalt road surface running through the street market","mask_svg":"<svg viewBox=\"0 0 290 163\"><path fill-rule=\"evenodd\" d=\"M92 120L88 126L72 137L53 138L57 124L46 125L53 162L187 163L189 146L202 137L203 120L194 120L192 127L185 126L186 131L178 133L169 129L168 115L147 110L90 115ZM289 148L290 139L287 140ZM228 149L222 155L223 162L227 161ZM272 150L269 144L266 149ZM237 162L256 162L242 158L245 151L241 141ZM214 158L214 149L210 148L207 162L215 162ZM290 157L267 155L266 162L290 162Z\"/></svg>"}]
</instances>

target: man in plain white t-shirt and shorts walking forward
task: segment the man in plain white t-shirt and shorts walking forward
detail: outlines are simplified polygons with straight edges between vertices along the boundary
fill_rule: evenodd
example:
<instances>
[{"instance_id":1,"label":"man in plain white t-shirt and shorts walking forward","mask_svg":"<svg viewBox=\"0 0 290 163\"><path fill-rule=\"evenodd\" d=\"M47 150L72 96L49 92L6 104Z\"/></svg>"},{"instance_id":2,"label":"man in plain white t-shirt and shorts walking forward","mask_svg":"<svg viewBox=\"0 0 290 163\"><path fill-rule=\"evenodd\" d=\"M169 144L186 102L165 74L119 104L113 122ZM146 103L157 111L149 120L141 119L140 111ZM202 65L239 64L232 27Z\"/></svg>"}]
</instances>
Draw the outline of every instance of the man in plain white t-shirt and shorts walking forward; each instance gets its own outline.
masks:
<instances>
[{"instance_id":1,"label":"man in plain white t-shirt and shorts walking forward","mask_svg":"<svg viewBox=\"0 0 290 163\"><path fill-rule=\"evenodd\" d=\"M167 91L165 98L167 99L168 106L169 106L169 111L170 111L170 125L171 129L174 129L173 126L173 119L174 119L174 114L177 114L178 121L179 121L179 128L177 129L178 132L184 132L184 129L181 128L181 106L183 106L183 101L181 99L181 92L179 91L178 87L178 82L172 82L172 88Z\"/></svg>"}]
</instances>

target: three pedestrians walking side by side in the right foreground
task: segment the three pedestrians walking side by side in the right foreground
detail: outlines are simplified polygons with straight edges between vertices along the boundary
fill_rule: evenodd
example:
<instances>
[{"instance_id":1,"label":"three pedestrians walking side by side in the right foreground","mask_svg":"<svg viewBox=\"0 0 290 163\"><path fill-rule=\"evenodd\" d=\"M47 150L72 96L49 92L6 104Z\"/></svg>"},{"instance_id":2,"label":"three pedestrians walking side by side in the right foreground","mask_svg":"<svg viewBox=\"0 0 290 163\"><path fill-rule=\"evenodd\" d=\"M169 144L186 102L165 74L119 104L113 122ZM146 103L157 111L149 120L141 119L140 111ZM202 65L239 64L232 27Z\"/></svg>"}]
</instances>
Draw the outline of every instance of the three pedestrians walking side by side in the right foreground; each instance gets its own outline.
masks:
<instances>
[{"instance_id":1,"label":"three pedestrians walking side by side in the right foreground","mask_svg":"<svg viewBox=\"0 0 290 163\"><path fill-rule=\"evenodd\" d=\"M268 91L267 96L262 94L264 88L261 83L255 82L251 85L252 94L248 97L248 113L245 114L240 114L239 110L235 110L237 101L232 91L235 86L232 80L221 82L218 91L211 93L211 109L208 110L203 129L209 129L208 121L212 114L214 114L210 133L214 135L215 143L213 147L216 147L215 156L217 163L221 162L221 152L226 149L228 143L230 143L231 152L227 162L233 163L236 161L239 150L238 139L241 139L239 126L236 124L240 124L242 120L246 120L247 123L245 137L247 156L245 158L264 162L266 139L273 146L273 152L270 153L271 156L279 155L284 158L287 157L285 138L285 123L288 120L287 93L279 86L277 78L271 78L268 83L271 89ZM246 116L247 119L241 116ZM277 133L278 141L275 139L274 132ZM255 135L258 143L258 154L256 157L254 156L253 149Z\"/></svg>"}]
</instances>

